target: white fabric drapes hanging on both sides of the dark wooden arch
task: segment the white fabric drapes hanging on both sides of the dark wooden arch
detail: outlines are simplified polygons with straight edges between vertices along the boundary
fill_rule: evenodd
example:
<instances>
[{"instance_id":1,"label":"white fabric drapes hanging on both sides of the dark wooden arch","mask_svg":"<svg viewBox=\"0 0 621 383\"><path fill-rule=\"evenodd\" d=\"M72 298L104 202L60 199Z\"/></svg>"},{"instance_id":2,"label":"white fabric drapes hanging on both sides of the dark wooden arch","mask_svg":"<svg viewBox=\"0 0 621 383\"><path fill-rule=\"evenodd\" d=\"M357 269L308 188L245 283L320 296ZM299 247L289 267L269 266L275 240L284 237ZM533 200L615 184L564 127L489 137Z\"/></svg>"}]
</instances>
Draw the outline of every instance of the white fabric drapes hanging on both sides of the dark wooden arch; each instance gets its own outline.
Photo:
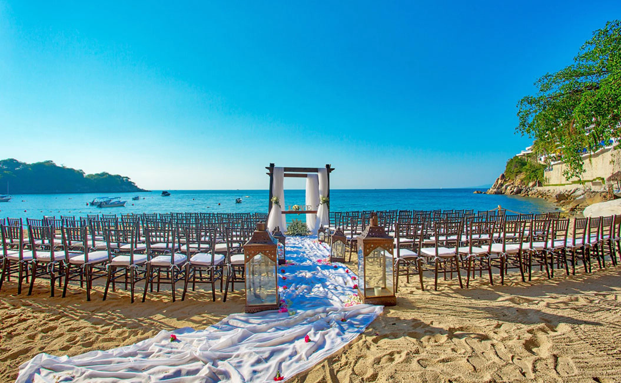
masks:
<instances>
[{"instance_id":1,"label":"white fabric drapes hanging on both sides of the dark wooden arch","mask_svg":"<svg viewBox=\"0 0 621 383\"><path fill-rule=\"evenodd\" d=\"M284 205L284 167L274 167L272 178L272 195L278 198L278 204L271 203L268 216L268 229L279 227L283 232L287 229L287 219L283 214ZM316 210L317 213L306 215L306 226L312 234L317 234L321 225L329 226L330 216L327 203L321 203L322 198L328 196L328 170L325 167L317 168L317 174L306 175L306 206L307 210Z\"/></svg>"}]
</instances>

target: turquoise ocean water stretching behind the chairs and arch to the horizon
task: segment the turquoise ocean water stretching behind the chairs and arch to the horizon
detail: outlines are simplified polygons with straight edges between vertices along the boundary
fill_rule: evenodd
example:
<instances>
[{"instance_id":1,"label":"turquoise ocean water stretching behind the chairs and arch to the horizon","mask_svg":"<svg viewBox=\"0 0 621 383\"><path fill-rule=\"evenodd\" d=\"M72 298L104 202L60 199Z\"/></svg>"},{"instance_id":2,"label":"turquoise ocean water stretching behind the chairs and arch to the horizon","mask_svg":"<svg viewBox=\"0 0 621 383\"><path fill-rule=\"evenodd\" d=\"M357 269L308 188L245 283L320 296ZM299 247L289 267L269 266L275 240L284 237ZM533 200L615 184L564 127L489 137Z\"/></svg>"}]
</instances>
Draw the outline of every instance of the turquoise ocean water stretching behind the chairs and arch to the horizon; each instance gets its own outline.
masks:
<instances>
[{"instance_id":1,"label":"turquoise ocean water stretching behind the chairs and arch to the horizon","mask_svg":"<svg viewBox=\"0 0 621 383\"><path fill-rule=\"evenodd\" d=\"M266 212L267 190L168 190L171 196L160 196L161 190L145 193L46 194L13 195L0 203L0 218L40 218L46 216L86 216L96 213L170 213L170 212ZM555 206L538 198L473 194L474 189L389 189L331 190L330 210L491 210L498 205L520 213L553 211ZM139 195L138 201L132 196ZM286 190L284 208L305 205L304 190ZM127 200L123 208L101 209L87 206L99 196L119 196ZM242 203L235 203L242 198ZM289 215L304 219L304 215Z\"/></svg>"}]
</instances>

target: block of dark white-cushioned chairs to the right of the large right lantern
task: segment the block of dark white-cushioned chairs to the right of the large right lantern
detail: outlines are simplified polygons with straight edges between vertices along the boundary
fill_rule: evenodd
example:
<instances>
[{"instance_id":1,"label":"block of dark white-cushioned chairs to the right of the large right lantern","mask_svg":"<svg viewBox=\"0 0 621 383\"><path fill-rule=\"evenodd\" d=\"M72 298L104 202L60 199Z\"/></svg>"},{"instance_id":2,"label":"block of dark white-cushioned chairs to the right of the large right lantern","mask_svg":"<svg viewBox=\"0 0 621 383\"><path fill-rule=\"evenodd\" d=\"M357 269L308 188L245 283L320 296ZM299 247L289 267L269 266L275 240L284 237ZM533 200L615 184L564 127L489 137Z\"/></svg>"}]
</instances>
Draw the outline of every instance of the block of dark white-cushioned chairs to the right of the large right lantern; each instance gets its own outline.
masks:
<instances>
[{"instance_id":1,"label":"block of dark white-cushioned chairs to the right of the large right lantern","mask_svg":"<svg viewBox=\"0 0 621 383\"><path fill-rule=\"evenodd\" d=\"M396 285L399 275L418 274L424 289L423 273L432 270L434 287L438 275L453 277L463 287L461 271L466 270L466 287L479 272L489 274L494 284L492 267L499 270L501 284L510 269L517 269L520 278L532 279L533 267L545 269L553 278L556 269L576 274L577 262L585 272L592 271L592 259L605 267L606 257L617 265L617 249L621 252L621 216L570 219L540 217L440 219L399 221L395 236ZM572 226L571 233L569 227Z\"/></svg>"}]
</instances>

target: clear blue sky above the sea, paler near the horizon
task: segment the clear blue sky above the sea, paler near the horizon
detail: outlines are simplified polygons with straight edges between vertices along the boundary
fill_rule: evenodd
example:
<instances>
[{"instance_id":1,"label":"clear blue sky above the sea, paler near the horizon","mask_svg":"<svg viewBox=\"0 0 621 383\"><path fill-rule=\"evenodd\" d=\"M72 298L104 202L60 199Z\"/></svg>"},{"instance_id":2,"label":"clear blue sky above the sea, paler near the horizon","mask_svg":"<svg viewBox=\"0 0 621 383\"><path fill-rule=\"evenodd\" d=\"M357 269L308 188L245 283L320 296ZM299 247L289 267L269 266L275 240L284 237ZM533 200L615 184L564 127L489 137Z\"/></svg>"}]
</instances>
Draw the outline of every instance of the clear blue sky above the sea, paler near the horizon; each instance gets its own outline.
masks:
<instances>
[{"instance_id":1,"label":"clear blue sky above the sea, paler near the horizon","mask_svg":"<svg viewBox=\"0 0 621 383\"><path fill-rule=\"evenodd\" d=\"M492 183L515 104L621 2L0 0L0 157L145 188ZM303 188L287 180L286 188Z\"/></svg>"}]
</instances>

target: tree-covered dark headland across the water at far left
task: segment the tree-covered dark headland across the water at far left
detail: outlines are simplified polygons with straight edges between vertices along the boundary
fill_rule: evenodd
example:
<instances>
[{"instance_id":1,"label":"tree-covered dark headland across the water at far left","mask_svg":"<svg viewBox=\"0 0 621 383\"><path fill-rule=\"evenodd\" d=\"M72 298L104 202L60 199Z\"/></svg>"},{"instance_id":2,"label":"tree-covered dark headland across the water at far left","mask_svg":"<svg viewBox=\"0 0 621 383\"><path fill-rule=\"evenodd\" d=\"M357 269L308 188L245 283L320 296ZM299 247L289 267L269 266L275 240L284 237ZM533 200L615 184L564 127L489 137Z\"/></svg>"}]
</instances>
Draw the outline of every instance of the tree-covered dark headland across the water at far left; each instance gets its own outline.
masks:
<instances>
[{"instance_id":1,"label":"tree-covered dark headland across the water at far left","mask_svg":"<svg viewBox=\"0 0 621 383\"><path fill-rule=\"evenodd\" d=\"M0 160L0 193L99 193L141 192L127 177L109 173L84 174L52 161L26 164L15 159Z\"/></svg>"}]
</instances>

